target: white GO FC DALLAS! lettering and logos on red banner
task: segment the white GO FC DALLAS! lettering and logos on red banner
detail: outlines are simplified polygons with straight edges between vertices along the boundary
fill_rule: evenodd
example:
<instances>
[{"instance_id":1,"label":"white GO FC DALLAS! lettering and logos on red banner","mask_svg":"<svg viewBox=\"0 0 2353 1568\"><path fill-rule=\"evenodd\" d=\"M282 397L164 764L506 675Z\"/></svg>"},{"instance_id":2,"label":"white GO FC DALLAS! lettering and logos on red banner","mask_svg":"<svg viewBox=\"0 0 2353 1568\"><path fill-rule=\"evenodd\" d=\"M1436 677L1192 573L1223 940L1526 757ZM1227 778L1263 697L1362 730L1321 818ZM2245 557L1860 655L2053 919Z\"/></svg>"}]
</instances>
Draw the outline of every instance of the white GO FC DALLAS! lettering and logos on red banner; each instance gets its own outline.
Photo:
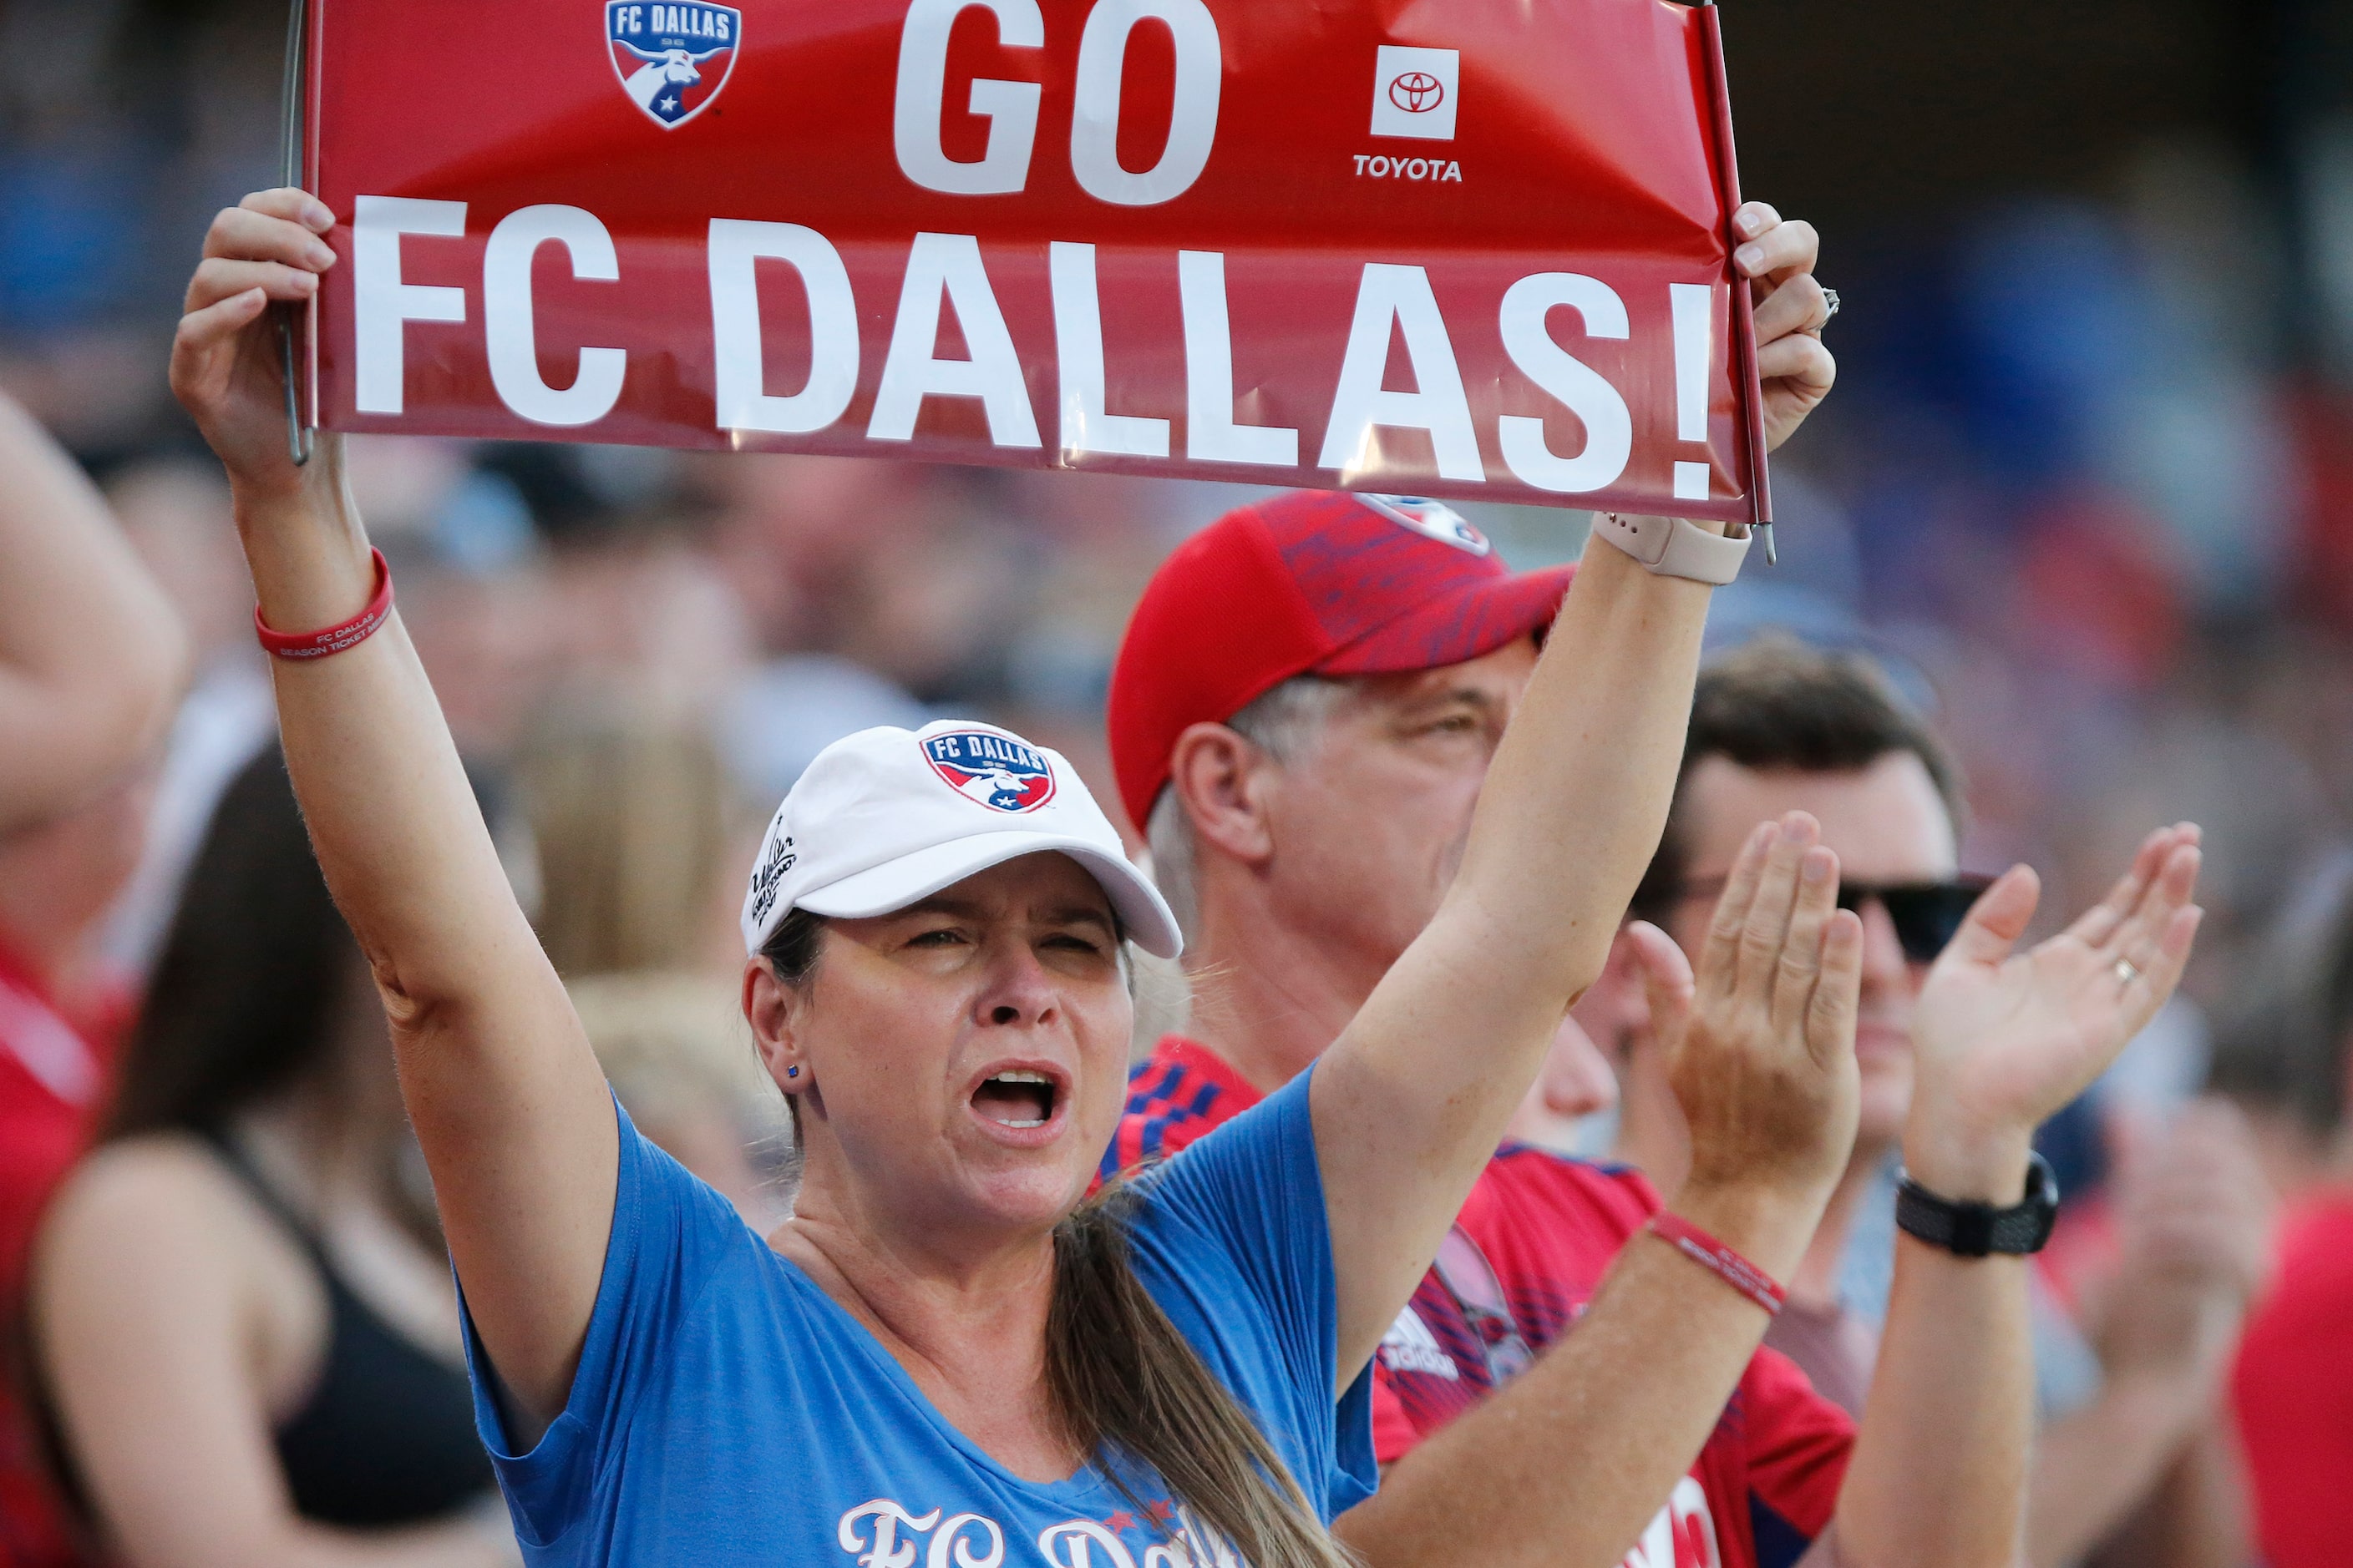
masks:
<instances>
[{"instance_id":1,"label":"white GO FC DALLAS! lettering and logos on red banner","mask_svg":"<svg viewBox=\"0 0 2353 1568\"><path fill-rule=\"evenodd\" d=\"M741 59L744 33L758 24L736 7L708 2L614 0L605 9L614 68L652 122L645 129L652 136L680 129L715 103ZM967 9L993 12L1007 47L1042 45L1035 0L915 0L899 35L892 150L899 172L927 193L1016 195L1028 188L1040 160L1038 143L1059 139L1054 132L1061 127L1040 125L1035 82L955 80L958 92L951 92L948 33ZM1146 19L1165 24L1174 45L1174 94L1158 162L1139 172L1120 162L1118 127L1129 45ZM1377 54L1367 129L1377 139L1407 139L1407 146L1355 153L1355 174L1348 176L1346 167L1334 174L1351 186L1355 179L1409 186L1431 202L1445 202L1464 186L1464 169L1454 158L1431 153L1447 153L1454 141L1459 52L1381 45ZM1209 165L1219 134L1219 82L1221 40L1202 0L1094 5L1078 40L1066 132L1068 169L1082 193L1104 207L1155 207L1184 195ZM944 115L951 108L962 113L965 92L972 115L988 125L979 158L951 158L944 146ZM1412 155L1417 146L1421 155ZM1633 343L1638 336L1671 336L1671 346L1654 355L1673 367L1671 386L1640 376L1640 395L1673 400L1680 442L1706 444L1708 437L1708 376L1718 348L1713 284L1647 282L1628 308L1628 294L1602 277L1532 270L1499 280L1506 284L1499 299L1485 294L1480 303L1464 303L1454 292L1440 306L1442 289L1433 289L1426 266L1341 263L1353 270L1353 315L1341 339L1334 301L1329 336L1318 341L1329 348L1315 353L1332 353L1332 362L1315 374L1315 386L1332 388L1329 400L1315 393L1318 404L1294 409L1285 423L1252 407L1249 383L1235 376L1226 252L1172 247L1172 303L1181 320L1181 386L1172 386L1172 376L1122 376L1120 355L1106 350L1096 244L1085 235L1042 244L1052 360L1038 353L1042 343L1024 355L1014 327L1035 327L1019 313L1009 324L1000 292L1007 268L1024 277L1035 273L1033 252L1040 244L993 240L986 230L953 233L955 212L955 205L934 202L936 230L885 242L904 244L887 339L880 331L887 301L875 299L887 282L878 277L873 235L842 235L838 244L807 223L708 216L696 235L711 322L708 428L729 444L753 444L762 435L826 435L885 451L915 442L927 402L958 400L953 407L976 414L988 444L1002 451L1042 451L1052 442L1073 463L1106 456L1228 470L1313 465L1332 470L1344 484L1384 470L1384 430L1414 430L1428 440L1435 480L1480 484L1508 477L1539 491L1591 494L1626 477L1635 418L1626 393L1562 346L1581 334L1628 348L1640 348ZM642 343L635 350L598 346L593 336L574 348L574 334L565 334L569 343L546 341L534 324L534 273L541 289L572 289L555 282L565 273L588 284L626 282L614 233L591 207L541 202L482 212L480 202L360 193L348 221L355 414L400 416L412 357L442 360L464 341L449 334L478 334L492 390L508 414L595 437L598 423L621 402L633 355L649 353ZM471 287L409 280L419 273L447 277L452 252L438 244L468 235L464 249L480 247L482 254L478 308L468 299ZM1412 247L1412 240L1400 233L1400 244ZM548 247L560 256L544 254ZM845 263L845 249L864 261ZM991 256L998 277L991 275ZM760 282L762 270L767 284ZM795 284L784 282L786 270ZM854 270L861 273L856 289ZM1468 320L1473 310L1485 320ZM1642 322L1640 329L1635 322ZM941 355L944 331L951 341L962 339L962 355ZM1459 355L1464 334L1499 341L1508 369L1487 369L1489 360ZM779 346L779 364L769 364L769 339ZM1393 343L1402 346L1402 374L1391 371ZM553 364L541 362L541 350ZM560 383L555 367L574 355L576 369L569 383ZM1047 362L1049 376L1038 371ZM1574 425L1560 421L1548 440L1546 418L1499 411L1492 395L1473 414L1466 367L1473 386L1475 376L1501 374L1499 386L1518 378L1539 397L1529 402L1522 395L1520 407L1565 411ZM1033 376L1052 386L1033 386ZM1395 390L1398 378L1412 390ZM1040 409L1040 402L1049 407ZM1127 407L1113 411L1113 402ZM1040 416L1052 418L1052 430ZM1581 430L1581 444L1572 430ZM1499 470L1487 465L1482 451L1501 456ZM1673 494L1706 501L1708 465L1675 461Z\"/></svg>"}]
</instances>

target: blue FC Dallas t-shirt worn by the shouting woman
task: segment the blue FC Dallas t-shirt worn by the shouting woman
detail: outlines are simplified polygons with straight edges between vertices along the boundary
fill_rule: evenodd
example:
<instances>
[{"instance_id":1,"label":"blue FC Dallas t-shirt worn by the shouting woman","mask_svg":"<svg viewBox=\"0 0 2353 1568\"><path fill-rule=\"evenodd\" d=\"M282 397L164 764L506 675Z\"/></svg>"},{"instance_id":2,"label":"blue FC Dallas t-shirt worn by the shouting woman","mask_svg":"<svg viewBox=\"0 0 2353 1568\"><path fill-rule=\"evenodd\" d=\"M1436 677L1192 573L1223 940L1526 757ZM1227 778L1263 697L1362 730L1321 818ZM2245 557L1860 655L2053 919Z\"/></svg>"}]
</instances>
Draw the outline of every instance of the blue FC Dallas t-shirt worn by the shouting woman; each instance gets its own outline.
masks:
<instances>
[{"instance_id":1,"label":"blue FC Dallas t-shirt worn by the shouting woman","mask_svg":"<svg viewBox=\"0 0 2353 1568\"><path fill-rule=\"evenodd\" d=\"M1334 1385L1337 1293L1308 1077L1151 1173L1144 1288L1325 1519L1372 1495L1369 1385ZM621 1114L621 1173L572 1399L506 1439L468 1324L475 1420L532 1563L1219 1568L1153 1474L1024 1481L718 1192ZM1231 1559L1228 1559L1231 1561Z\"/></svg>"}]
</instances>

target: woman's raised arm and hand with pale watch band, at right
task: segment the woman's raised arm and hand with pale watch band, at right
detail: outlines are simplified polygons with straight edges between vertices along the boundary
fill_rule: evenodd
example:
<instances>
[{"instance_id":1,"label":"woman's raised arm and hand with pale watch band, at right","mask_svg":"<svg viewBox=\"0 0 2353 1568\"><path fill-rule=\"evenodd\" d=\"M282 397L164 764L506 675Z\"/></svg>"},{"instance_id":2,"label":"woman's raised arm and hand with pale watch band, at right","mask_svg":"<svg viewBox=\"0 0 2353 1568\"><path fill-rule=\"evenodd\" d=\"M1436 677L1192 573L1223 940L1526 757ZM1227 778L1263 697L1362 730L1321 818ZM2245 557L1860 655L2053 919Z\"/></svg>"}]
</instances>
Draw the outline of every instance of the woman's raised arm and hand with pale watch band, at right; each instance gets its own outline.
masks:
<instances>
[{"instance_id":1,"label":"woman's raised arm and hand with pale watch band, at right","mask_svg":"<svg viewBox=\"0 0 2353 1568\"><path fill-rule=\"evenodd\" d=\"M1814 230L1758 202L1739 219L1739 268L1769 287L1758 362L1779 442L1833 376ZM1600 978L1666 827L1708 595L1586 545L1438 917L1315 1070L1344 1375L1412 1295L1560 1016ZM1781 851L1791 877L1798 853Z\"/></svg>"}]
</instances>

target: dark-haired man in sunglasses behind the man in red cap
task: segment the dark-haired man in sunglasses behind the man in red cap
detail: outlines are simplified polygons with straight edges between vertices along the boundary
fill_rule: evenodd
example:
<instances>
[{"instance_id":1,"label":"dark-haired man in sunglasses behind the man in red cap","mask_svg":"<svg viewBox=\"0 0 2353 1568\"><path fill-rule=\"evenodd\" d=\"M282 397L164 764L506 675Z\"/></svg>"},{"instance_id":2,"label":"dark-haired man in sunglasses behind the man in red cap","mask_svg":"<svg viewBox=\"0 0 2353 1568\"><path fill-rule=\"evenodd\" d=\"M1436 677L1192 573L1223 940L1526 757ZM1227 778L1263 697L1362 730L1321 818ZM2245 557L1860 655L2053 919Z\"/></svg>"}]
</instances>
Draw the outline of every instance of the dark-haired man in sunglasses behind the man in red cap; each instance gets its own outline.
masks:
<instances>
[{"instance_id":1,"label":"dark-haired man in sunglasses behind the man in red cap","mask_svg":"<svg viewBox=\"0 0 2353 1568\"><path fill-rule=\"evenodd\" d=\"M1894 1161L1913 1093L1911 1016L1939 917L1918 889L1944 886L1946 917L1967 907L1955 875L1960 778L1944 743L1857 654L1777 637L1708 665L1694 701L1685 773L1666 842L1635 912L1697 950L1718 886L1697 865L1729 865L1758 820L1812 811L1864 900L1864 987L1857 1058L1861 1119L1847 1178L1833 1194L1788 1305L1765 1342L1840 1403L1861 1406L1894 1272ZM1894 912L1906 898L1904 919ZM1664 1084L1647 1009L1624 961L1577 1018L1621 1063L1617 1150L1673 1190L1687 1159L1680 1110ZM2219 1410L2219 1375L2264 1255L2266 1199L2235 1117L2202 1110L2148 1140L2118 1180L2120 1265L2104 1312L2078 1324L2035 1272L2035 1380L2042 1432L2028 1502L2035 1568L2080 1561L2165 1509L2169 1542L2212 1542L2205 1556L2155 1561L2228 1568L2235 1509L2205 1488L2200 1432ZM2094 1349L2097 1347L2097 1349Z\"/></svg>"}]
</instances>

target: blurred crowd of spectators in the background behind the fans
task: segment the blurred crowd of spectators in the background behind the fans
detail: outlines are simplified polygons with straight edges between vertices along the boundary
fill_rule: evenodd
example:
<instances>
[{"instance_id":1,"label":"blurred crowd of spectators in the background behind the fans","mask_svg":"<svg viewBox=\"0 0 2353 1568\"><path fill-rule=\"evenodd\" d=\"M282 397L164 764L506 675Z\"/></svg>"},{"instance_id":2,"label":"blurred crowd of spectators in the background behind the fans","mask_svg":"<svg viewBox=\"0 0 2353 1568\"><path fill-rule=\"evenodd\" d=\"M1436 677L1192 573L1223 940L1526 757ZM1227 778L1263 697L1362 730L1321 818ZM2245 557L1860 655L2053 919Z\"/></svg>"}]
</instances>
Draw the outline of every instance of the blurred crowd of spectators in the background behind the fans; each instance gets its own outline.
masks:
<instances>
[{"instance_id":1,"label":"blurred crowd of spectators in the background behind the fans","mask_svg":"<svg viewBox=\"0 0 2353 1568\"><path fill-rule=\"evenodd\" d=\"M205 216L275 183L282 7L0 19L12 42L35 28L52 68L0 89L0 386L104 508L45 477L31 425L9 437L0 618L49 592L35 536L80 531L80 569L113 583L82 590L136 635L92 621L106 658L73 675L24 646L28 618L0 623L0 722L42 682L78 715L0 731L0 1316L21 1418L0 1486L54 1486L0 1493L0 1563L73 1561L71 1542L198 1561L141 1516L216 1502L174 1495L155 1413L245 1387L268 1399L242 1441L315 1526L266 1561L508 1561L384 1025L275 759L228 491L162 388ZM2045 1406L2144 1389L2085 1441L2148 1450L2106 1537L2054 1563L2353 1561L2353 1469L2332 1474L2353 1453L2353 122L2334 136L2297 223L2186 136L2099 195L1986 205L1934 247L1833 233L1842 386L1777 463L1784 564L1725 590L1711 630L1878 658L1960 755L1965 863L2031 860L2047 910L2092 903L2148 823L2205 825L2181 999L2045 1128L2068 1208L2038 1267L2073 1347L2040 1368ZM2299 268L2341 284L2318 315L2282 310ZM348 461L619 1098L755 1222L791 1201L734 1001L767 811L828 741L941 715L1019 729L1115 795L1101 722L1127 611L1176 541L1254 494L391 437ZM1464 510L1522 569L1581 548L1577 512ZM1179 1009L1162 997L1153 1023ZM24 1114L38 1095L96 1152L42 1237L31 1356L31 1211L66 1166L40 1143L56 1121ZM125 1356L132 1239L212 1248L221 1300ZM259 1342L228 1338L252 1321ZM339 1472L360 1436L348 1401L327 1408L336 1378L414 1436L412 1474ZM2337 1406L2313 1392L2327 1378Z\"/></svg>"}]
</instances>

